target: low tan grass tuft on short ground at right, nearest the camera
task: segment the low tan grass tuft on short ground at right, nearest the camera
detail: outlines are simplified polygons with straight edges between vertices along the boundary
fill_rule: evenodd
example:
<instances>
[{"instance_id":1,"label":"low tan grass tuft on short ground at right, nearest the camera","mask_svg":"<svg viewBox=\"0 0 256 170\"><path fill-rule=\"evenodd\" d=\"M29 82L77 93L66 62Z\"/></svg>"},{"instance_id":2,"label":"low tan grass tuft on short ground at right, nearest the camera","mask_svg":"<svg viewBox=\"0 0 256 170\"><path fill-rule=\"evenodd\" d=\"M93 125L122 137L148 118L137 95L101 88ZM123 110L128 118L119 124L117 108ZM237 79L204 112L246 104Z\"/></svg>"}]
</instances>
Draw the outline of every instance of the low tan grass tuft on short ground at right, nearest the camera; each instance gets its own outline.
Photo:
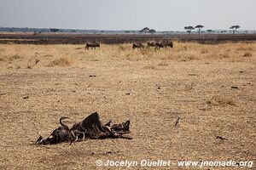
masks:
<instances>
[{"instance_id":1,"label":"low tan grass tuft on short ground at right, nearest the camera","mask_svg":"<svg viewBox=\"0 0 256 170\"><path fill-rule=\"evenodd\" d=\"M236 101L232 98L224 98L222 96L213 96L212 99L207 100L208 105L231 105L236 106Z\"/></svg>"}]
</instances>

